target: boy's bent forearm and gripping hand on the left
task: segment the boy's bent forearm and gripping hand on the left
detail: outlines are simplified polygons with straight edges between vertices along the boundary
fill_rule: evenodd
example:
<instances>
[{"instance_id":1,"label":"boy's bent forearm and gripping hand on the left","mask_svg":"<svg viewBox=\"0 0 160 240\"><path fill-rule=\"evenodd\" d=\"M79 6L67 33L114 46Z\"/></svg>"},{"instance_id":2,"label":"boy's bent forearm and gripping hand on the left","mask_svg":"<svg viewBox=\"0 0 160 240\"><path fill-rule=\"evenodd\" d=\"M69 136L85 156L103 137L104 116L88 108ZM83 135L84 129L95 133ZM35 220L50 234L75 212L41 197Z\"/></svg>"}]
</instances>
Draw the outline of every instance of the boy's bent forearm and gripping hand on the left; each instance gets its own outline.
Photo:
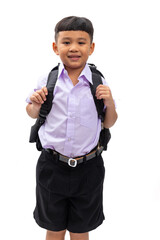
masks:
<instances>
[{"instance_id":1,"label":"boy's bent forearm and gripping hand on the left","mask_svg":"<svg viewBox=\"0 0 160 240\"><path fill-rule=\"evenodd\" d=\"M37 90L30 97L31 103L26 107L26 111L31 118L38 118L41 105L46 101L48 90L46 87Z\"/></svg>"}]
</instances>

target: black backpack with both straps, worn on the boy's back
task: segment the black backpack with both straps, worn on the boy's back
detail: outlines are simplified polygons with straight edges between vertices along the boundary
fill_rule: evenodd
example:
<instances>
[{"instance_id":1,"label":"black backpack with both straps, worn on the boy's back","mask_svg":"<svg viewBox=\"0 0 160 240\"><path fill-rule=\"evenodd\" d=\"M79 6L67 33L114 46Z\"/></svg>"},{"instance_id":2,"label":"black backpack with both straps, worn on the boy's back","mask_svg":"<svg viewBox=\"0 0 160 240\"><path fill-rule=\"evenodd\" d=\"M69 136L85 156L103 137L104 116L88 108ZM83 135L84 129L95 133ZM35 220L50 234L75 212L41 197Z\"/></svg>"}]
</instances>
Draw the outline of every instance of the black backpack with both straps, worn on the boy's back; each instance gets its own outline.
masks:
<instances>
[{"instance_id":1,"label":"black backpack with both straps, worn on the boy's back","mask_svg":"<svg viewBox=\"0 0 160 240\"><path fill-rule=\"evenodd\" d=\"M103 84L102 78L101 78L101 77L103 77L103 75L100 71L97 70L97 68L95 67L94 64L88 64L88 65L92 72L92 81L93 81L93 85L90 84L90 89L91 89L93 99L94 99L94 102L96 105L98 117L101 118L101 121L103 122L104 116L105 116L105 113L103 111L103 109L104 109L103 99L99 100L95 96L97 86L99 84ZM41 151L43 148L42 148L39 136L38 136L38 131L39 131L40 127L44 124L46 117L52 108L52 101L53 101L53 97L54 97L53 91L54 91L54 87L55 87L57 77L58 77L58 68L59 68L59 64L58 64L58 66L53 68L51 70L51 72L49 73L47 85L46 85L46 87L48 89L48 95L46 96L47 100L42 104L40 112L39 112L39 117L37 118L36 123L31 127L29 142L31 142L31 143L36 142L36 147L39 151ZM109 129L103 128L101 130L100 138L99 138L99 146L103 147L103 150L107 150L107 144L108 144L110 138L111 138L111 134L110 134Z\"/></svg>"}]
</instances>

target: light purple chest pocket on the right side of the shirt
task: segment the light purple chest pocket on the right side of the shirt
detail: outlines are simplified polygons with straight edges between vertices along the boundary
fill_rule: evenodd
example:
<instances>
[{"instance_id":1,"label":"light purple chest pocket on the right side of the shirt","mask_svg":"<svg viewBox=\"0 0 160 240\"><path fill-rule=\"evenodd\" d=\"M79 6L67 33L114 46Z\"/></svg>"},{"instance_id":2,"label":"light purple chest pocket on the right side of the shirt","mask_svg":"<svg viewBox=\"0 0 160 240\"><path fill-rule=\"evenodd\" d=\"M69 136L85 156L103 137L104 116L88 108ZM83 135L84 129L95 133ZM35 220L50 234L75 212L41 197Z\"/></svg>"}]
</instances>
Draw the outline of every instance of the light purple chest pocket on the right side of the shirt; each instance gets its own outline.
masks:
<instances>
[{"instance_id":1,"label":"light purple chest pocket on the right side of the shirt","mask_svg":"<svg viewBox=\"0 0 160 240\"><path fill-rule=\"evenodd\" d=\"M97 110L93 98L80 100L80 124L87 128L95 128L97 122Z\"/></svg>"}]
</instances>

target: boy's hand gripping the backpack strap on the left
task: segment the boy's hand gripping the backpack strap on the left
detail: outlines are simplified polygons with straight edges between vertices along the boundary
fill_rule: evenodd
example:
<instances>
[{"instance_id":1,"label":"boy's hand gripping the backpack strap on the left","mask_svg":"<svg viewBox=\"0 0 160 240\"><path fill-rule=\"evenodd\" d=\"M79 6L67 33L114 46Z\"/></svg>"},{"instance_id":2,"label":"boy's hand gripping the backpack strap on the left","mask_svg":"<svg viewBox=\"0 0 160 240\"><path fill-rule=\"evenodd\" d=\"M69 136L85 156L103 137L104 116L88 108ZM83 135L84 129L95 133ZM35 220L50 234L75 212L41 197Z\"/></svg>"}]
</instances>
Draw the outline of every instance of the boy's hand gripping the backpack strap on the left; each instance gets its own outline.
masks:
<instances>
[{"instance_id":1,"label":"boy's hand gripping the backpack strap on the left","mask_svg":"<svg viewBox=\"0 0 160 240\"><path fill-rule=\"evenodd\" d=\"M46 87L42 87L40 90L35 91L30 100L33 104L42 105L46 101L46 95L48 95L48 90Z\"/></svg>"}]
</instances>

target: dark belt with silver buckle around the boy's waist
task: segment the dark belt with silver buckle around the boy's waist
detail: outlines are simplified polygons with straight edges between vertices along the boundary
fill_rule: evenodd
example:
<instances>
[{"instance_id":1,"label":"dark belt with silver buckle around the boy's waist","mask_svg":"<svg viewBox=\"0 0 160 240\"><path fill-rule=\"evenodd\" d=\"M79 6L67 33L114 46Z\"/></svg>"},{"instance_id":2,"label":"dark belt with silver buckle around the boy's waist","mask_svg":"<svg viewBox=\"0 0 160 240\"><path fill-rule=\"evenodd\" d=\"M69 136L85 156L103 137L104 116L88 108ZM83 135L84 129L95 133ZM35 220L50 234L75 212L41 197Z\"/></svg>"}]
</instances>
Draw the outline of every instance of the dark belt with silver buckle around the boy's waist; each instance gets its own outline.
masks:
<instances>
[{"instance_id":1,"label":"dark belt with silver buckle around the boy's waist","mask_svg":"<svg viewBox=\"0 0 160 240\"><path fill-rule=\"evenodd\" d=\"M95 158L96 156L100 155L103 151L103 147L97 147L97 149L95 149L94 151L91 151L90 153L88 153L82 157L76 157L76 158L66 157L52 149L49 149L49 148L45 149L45 151L52 153L53 155L57 155L59 161L68 163L68 165L70 167L76 167L77 164L83 163L85 161L89 161L89 160Z\"/></svg>"}]
</instances>

